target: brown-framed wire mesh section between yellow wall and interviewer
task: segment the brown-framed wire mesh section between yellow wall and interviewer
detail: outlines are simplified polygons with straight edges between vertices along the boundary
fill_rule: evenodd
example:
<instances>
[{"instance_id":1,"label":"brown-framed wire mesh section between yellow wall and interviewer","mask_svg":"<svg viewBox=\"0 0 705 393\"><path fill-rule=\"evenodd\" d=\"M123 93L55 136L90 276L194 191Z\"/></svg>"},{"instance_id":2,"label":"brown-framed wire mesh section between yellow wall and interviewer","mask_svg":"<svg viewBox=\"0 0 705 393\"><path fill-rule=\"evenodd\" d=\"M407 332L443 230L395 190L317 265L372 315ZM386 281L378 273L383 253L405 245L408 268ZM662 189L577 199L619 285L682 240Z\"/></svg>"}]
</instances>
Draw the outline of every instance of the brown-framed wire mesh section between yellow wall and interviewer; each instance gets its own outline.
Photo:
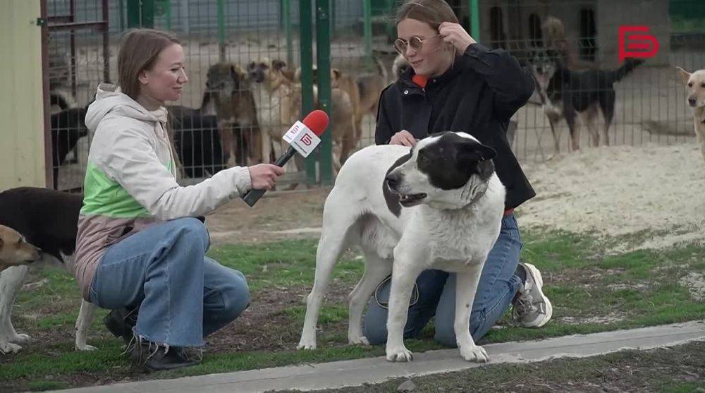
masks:
<instances>
[{"instance_id":1,"label":"brown-framed wire mesh section between yellow wall and interviewer","mask_svg":"<svg viewBox=\"0 0 705 393\"><path fill-rule=\"evenodd\" d=\"M49 111L53 187L82 187L89 135L85 110L109 78L108 1L47 2Z\"/></svg>"}]
</instances>

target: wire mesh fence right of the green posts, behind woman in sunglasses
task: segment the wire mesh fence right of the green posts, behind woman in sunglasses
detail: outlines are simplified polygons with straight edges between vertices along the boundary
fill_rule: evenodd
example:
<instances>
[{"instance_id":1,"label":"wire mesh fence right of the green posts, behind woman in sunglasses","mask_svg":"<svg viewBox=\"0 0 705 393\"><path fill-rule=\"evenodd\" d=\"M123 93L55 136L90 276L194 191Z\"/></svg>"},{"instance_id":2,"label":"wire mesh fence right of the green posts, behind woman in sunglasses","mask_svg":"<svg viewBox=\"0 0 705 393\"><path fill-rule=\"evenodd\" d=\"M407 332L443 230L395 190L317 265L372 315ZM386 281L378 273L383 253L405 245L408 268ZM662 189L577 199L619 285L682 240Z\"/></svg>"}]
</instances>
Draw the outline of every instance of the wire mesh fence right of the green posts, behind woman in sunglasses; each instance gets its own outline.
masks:
<instances>
[{"instance_id":1,"label":"wire mesh fence right of the green posts, behind woman in sunglasses","mask_svg":"<svg viewBox=\"0 0 705 393\"><path fill-rule=\"evenodd\" d=\"M372 25L372 58L386 65L388 82L395 54L393 16L401 1L336 1L333 64L349 73L365 53L364 9ZM448 1L468 27L471 1ZM513 54L536 79L529 103L513 116L508 138L522 160L544 161L595 145L683 143L693 137L692 115L675 66L704 68L702 1L481 0L479 42ZM619 59L619 28L647 28L658 52L647 59ZM627 30L628 31L628 30ZM648 52L649 42L630 42ZM636 52L639 52L638 50ZM396 69L396 68L395 68ZM568 100L564 102L564 100ZM364 116L356 146L374 143L374 116Z\"/></svg>"}]
</instances>

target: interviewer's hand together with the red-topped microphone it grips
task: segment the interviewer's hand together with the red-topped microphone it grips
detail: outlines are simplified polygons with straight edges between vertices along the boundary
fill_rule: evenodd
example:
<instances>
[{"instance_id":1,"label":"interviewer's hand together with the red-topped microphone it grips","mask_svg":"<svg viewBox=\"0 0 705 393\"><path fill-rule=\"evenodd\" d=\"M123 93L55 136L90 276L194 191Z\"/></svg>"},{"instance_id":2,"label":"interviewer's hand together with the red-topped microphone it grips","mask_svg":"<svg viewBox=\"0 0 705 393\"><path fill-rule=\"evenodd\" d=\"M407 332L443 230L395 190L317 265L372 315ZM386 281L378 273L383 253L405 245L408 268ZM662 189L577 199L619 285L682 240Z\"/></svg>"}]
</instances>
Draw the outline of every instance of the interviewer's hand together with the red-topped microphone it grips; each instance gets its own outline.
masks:
<instances>
[{"instance_id":1,"label":"interviewer's hand together with the red-topped microphone it grips","mask_svg":"<svg viewBox=\"0 0 705 393\"><path fill-rule=\"evenodd\" d=\"M274 165L259 164L250 167L250 177L252 177L252 190L247 191L243 200L250 207L254 206L264 192L274 186L278 176L284 173L282 168L296 152L308 157L309 154L321 143L318 138L328 127L328 114L319 109L312 111L305 117L303 122L297 121L284 135L284 140L289 143L281 157L276 159ZM257 183L255 181L257 180Z\"/></svg>"}]
</instances>

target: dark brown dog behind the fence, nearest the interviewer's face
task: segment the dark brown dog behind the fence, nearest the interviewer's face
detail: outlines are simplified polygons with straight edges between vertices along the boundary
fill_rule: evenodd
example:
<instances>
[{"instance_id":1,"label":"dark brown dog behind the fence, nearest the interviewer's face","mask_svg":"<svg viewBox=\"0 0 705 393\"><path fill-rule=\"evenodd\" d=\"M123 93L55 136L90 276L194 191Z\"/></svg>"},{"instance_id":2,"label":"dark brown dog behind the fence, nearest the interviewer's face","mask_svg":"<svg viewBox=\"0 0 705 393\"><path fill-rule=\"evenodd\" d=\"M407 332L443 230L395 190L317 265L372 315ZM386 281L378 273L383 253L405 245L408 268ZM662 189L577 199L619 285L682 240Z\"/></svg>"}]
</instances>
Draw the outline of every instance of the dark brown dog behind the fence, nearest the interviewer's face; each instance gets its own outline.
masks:
<instances>
[{"instance_id":1,"label":"dark brown dog behind the fence, nearest the interviewer's face","mask_svg":"<svg viewBox=\"0 0 705 393\"><path fill-rule=\"evenodd\" d=\"M246 76L237 64L210 66L201 104L202 110L209 104L214 106L223 159L228 167L235 163L247 165L262 162L262 135L257 124L255 100L245 83Z\"/></svg>"}]
</instances>

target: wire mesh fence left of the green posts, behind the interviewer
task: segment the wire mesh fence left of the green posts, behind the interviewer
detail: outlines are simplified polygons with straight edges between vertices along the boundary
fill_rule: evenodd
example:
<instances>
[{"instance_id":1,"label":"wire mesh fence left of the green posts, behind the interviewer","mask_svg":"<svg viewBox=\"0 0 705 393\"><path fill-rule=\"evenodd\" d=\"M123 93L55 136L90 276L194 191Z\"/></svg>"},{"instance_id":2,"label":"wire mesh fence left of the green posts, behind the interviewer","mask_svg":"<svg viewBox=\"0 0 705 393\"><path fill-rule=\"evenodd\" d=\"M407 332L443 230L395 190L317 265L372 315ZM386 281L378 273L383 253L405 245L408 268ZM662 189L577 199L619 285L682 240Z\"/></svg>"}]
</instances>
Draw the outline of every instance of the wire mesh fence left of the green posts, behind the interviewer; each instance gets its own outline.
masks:
<instances>
[{"instance_id":1,"label":"wire mesh fence left of the green posts, behind the interviewer","mask_svg":"<svg viewBox=\"0 0 705 393\"><path fill-rule=\"evenodd\" d=\"M281 154L281 136L301 115L298 0L46 1L55 188L82 187L90 146L82 119L97 85L117 83L130 27L171 30L183 45L188 85L168 103L183 183ZM303 164L293 161L295 182Z\"/></svg>"}]
</instances>

